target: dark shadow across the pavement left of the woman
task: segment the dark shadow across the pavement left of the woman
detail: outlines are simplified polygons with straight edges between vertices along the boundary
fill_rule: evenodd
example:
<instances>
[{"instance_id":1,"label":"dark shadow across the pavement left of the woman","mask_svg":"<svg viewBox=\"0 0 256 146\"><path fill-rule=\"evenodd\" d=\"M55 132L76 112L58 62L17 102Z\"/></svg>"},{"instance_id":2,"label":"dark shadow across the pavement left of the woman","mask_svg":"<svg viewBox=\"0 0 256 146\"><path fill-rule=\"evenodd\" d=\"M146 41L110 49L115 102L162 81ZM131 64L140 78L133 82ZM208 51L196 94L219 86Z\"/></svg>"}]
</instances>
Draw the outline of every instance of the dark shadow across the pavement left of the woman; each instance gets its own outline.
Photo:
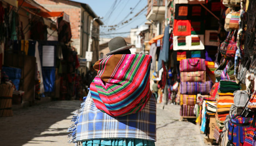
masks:
<instances>
[{"instance_id":1,"label":"dark shadow across the pavement left of the woman","mask_svg":"<svg viewBox=\"0 0 256 146\"><path fill-rule=\"evenodd\" d=\"M1 145L22 146L25 143L42 143L44 141L34 141L33 138L67 135L69 116L73 115L71 112L79 109L80 103L81 101L52 101L16 110L12 117L0 118ZM57 128L50 128L51 125L62 120L66 122L57 124ZM48 134L51 131L54 133ZM42 132L44 134L41 134Z\"/></svg>"}]
</instances>

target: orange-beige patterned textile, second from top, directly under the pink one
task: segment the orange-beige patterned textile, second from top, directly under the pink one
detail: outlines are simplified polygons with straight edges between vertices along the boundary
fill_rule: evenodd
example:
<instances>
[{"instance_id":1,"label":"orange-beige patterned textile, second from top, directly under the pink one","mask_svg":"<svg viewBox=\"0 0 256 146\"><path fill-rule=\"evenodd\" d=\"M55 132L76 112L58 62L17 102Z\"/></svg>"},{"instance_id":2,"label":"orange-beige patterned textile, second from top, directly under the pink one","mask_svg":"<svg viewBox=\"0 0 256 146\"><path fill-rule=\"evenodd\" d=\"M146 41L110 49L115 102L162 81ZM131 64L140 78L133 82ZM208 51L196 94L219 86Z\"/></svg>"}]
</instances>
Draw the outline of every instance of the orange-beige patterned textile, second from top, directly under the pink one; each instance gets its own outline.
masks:
<instances>
[{"instance_id":1,"label":"orange-beige patterned textile, second from top, directly under the pink one","mask_svg":"<svg viewBox=\"0 0 256 146\"><path fill-rule=\"evenodd\" d=\"M205 82L206 71L180 72L181 82Z\"/></svg>"}]
</instances>

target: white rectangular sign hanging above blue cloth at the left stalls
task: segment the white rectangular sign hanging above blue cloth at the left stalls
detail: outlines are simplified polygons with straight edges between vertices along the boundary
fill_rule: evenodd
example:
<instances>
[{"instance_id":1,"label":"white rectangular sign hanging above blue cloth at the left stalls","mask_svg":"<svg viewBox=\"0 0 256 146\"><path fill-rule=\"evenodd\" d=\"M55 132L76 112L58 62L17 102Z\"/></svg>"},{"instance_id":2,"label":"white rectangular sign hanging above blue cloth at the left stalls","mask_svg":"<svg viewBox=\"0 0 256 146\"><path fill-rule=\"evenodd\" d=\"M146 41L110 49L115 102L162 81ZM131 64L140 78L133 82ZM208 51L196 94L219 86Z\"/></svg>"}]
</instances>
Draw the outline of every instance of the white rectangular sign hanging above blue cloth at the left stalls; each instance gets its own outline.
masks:
<instances>
[{"instance_id":1,"label":"white rectangular sign hanging above blue cloth at the left stalls","mask_svg":"<svg viewBox=\"0 0 256 146\"><path fill-rule=\"evenodd\" d=\"M54 46L43 46L43 66L54 66Z\"/></svg>"}]
</instances>

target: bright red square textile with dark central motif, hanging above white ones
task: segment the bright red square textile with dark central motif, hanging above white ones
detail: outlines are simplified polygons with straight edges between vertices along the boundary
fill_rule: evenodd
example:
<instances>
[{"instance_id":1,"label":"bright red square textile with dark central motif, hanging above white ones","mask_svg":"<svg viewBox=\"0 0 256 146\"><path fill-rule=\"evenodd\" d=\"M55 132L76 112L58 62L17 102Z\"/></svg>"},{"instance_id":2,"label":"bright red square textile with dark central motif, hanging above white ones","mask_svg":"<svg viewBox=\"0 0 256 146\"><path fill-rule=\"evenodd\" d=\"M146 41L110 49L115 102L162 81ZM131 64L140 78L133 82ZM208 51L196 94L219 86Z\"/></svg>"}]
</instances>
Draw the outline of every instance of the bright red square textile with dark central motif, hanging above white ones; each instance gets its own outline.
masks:
<instances>
[{"instance_id":1,"label":"bright red square textile with dark central motif, hanging above white ones","mask_svg":"<svg viewBox=\"0 0 256 146\"><path fill-rule=\"evenodd\" d=\"M191 20L174 19L173 35L175 36L191 35Z\"/></svg>"}]
</instances>

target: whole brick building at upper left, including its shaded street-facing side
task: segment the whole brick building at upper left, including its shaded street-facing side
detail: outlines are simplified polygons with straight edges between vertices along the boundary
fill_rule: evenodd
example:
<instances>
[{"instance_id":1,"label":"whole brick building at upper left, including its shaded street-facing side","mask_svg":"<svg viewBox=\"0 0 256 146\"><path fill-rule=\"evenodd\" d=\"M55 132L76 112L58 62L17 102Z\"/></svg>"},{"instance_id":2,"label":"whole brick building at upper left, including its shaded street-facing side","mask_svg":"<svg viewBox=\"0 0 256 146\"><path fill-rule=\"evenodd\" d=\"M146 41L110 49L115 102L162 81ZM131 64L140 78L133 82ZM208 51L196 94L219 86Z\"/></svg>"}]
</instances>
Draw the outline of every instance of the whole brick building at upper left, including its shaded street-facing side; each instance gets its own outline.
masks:
<instances>
[{"instance_id":1,"label":"whole brick building at upper left, including its shaded street-facing side","mask_svg":"<svg viewBox=\"0 0 256 146\"><path fill-rule=\"evenodd\" d=\"M86 51L91 45L93 52L92 63L98 61L99 51L99 26L103 25L100 19L93 21L92 30L90 30L91 21L98 16L90 8L89 5L69 0L35 0L50 11L64 11L69 15L72 38L71 45L75 47L79 57L85 58ZM89 44L90 31L92 31Z\"/></svg>"}]
</instances>

